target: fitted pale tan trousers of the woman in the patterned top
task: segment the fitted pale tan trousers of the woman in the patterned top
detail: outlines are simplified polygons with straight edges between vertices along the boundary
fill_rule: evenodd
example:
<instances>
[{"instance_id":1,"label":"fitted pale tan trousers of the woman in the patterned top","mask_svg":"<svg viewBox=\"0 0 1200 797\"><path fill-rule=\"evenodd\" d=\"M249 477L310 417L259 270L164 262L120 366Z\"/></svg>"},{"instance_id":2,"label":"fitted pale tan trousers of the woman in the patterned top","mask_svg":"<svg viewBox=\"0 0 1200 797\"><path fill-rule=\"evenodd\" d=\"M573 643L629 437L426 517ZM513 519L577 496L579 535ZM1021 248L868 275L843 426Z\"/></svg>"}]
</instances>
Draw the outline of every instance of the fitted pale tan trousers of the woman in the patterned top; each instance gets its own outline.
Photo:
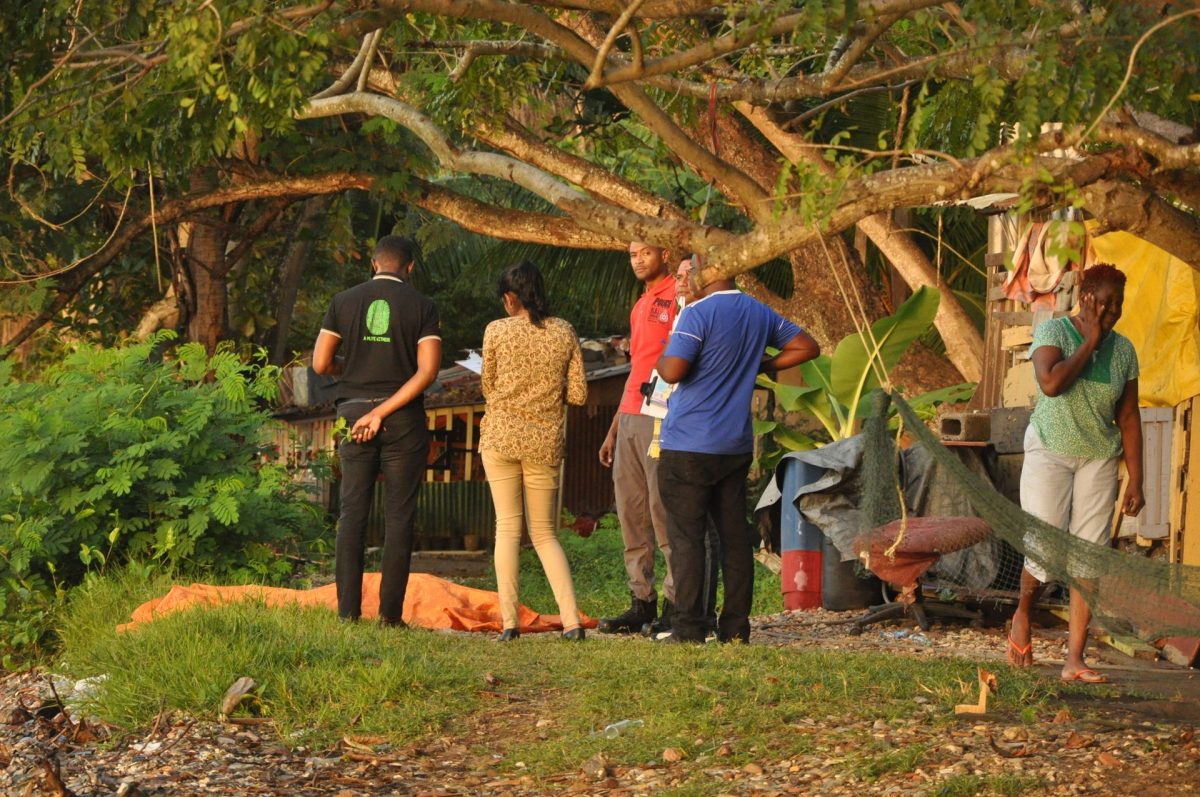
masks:
<instances>
[{"instance_id":1,"label":"fitted pale tan trousers of the woman in the patterned top","mask_svg":"<svg viewBox=\"0 0 1200 797\"><path fill-rule=\"evenodd\" d=\"M546 580L558 603L563 628L580 625L580 610L575 603L575 586L566 555L558 544L558 466L536 465L509 459L496 451L480 451L487 484L496 504L496 591L500 599L504 628L520 628L517 573L521 562L521 529L529 520L533 540Z\"/></svg>"}]
</instances>

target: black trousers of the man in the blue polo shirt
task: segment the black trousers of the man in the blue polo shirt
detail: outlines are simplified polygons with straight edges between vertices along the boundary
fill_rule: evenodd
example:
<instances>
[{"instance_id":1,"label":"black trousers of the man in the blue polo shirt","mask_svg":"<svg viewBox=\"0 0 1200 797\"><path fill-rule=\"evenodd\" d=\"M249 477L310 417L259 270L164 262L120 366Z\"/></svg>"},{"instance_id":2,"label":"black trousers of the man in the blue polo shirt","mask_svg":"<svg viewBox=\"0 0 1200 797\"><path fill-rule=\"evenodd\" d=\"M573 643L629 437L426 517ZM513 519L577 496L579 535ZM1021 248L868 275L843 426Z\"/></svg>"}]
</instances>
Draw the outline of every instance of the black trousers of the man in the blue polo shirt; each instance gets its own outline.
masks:
<instances>
[{"instance_id":1,"label":"black trousers of the man in the blue polo shirt","mask_svg":"<svg viewBox=\"0 0 1200 797\"><path fill-rule=\"evenodd\" d=\"M716 621L722 641L750 641L754 600L755 535L746 522L746 474L750 454L695 454L664 449L659 460L659 495L667 510L671 570L676 577L672 633L702 642L706 618L706 526L709 516L721 543L725 604Z\"/></svg>"}]
</instances>

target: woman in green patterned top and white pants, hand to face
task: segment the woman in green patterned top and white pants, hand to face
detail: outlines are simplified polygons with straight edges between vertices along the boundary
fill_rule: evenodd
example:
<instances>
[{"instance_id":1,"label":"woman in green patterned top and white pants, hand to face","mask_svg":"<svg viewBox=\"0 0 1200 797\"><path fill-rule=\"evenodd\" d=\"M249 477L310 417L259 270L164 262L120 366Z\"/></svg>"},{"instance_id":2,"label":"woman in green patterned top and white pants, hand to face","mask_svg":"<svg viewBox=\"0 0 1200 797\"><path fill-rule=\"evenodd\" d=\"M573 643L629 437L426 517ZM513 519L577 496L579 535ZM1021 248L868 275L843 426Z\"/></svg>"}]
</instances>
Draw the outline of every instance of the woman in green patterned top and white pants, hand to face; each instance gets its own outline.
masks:
<instances>
[{"instance_id":1,"label":"woman in green patterned top and white pants, hand to face","mask_svg":"<svg viewBox=\"0 0 1200 797\"><path fill-rule=\"evenodd\" d=\"M1141 475L1141 415L1138 412L1138 355L1112 326L1121 318L1126 275L1109 264L1082 274L1079 313L1055 318L1033 332L1033 370L1038 403L1025 433L1021 507L1070 535L1108 545L1118 489L1118 463L1129 475L1121 502L1126 515L1136 515L1146 501ZM1048 579L1050 549L1030 535L1021 595L1008 637L1014 666L1033 664L1030 610ZM1052 545L1051 545L1052 547ZM1094 579L1094 563L1067 544L1067 571L1073 581ZM1074 553L1074 556L1070 556ZM1040 561L1039 561L1040 559ZM1070 587L1067 660L1062 678L1104 683L1106 678L1084 663L1087 601Z\"/></svg>"}]
</instances>

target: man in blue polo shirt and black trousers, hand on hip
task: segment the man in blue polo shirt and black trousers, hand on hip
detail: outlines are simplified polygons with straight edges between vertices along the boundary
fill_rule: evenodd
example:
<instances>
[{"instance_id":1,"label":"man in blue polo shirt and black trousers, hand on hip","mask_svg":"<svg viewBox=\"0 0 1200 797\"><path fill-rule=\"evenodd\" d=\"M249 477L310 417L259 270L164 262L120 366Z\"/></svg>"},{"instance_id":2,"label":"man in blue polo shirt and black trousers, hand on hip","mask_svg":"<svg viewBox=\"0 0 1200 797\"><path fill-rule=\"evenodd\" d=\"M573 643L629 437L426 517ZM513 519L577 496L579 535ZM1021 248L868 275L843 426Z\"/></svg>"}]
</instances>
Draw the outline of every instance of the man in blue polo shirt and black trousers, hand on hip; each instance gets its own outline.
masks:
<instances>
[{"instance_id":1,"label":"man in blue polo shirt and black trousers, hand on hip","mask_svg":"<svg viewBox=\"0 0 1200 797\"><path fill-rule=\"evenodd\" d=\"M698 270L698 269L697 269ZM667 510L674 621L664 642L703 642L704 523L721 538L725 604L716 636L750 641L754 543L746 523L746 474L754 456L750 400L755 377L811 360L821 347L799 326L718 280L684 307L659 376L678 386L662 421L659 493ZM779 354L766 356L767 347Z\"/></svg>"}]
</instances>

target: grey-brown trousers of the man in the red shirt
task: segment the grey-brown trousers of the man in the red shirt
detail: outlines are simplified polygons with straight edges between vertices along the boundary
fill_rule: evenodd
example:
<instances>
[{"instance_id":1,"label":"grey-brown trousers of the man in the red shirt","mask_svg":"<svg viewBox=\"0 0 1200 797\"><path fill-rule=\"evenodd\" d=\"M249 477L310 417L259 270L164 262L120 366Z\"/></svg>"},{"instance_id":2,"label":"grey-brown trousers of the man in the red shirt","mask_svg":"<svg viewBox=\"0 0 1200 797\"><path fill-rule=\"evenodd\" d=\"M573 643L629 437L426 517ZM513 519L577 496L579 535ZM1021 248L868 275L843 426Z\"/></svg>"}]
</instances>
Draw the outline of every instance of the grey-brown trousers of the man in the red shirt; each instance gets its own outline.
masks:
<instances>
[{"instance_id":1,"label":"grey-brown trousers of the man in the red shirt","mask_svg":"<svg viewBox=\"0 0 1200 797\"><path fill-rule=\"evenodd\" d=\"M653 436L653 418L620 414L613 449L612 484L617 495L620 535L625 543L629 591L638 600L658 600L654 592L654 546L658 545L667 561L662 595L674 603L667 513L659 497L659 461L647 455Z\"/></svg>"}]
</instances>

